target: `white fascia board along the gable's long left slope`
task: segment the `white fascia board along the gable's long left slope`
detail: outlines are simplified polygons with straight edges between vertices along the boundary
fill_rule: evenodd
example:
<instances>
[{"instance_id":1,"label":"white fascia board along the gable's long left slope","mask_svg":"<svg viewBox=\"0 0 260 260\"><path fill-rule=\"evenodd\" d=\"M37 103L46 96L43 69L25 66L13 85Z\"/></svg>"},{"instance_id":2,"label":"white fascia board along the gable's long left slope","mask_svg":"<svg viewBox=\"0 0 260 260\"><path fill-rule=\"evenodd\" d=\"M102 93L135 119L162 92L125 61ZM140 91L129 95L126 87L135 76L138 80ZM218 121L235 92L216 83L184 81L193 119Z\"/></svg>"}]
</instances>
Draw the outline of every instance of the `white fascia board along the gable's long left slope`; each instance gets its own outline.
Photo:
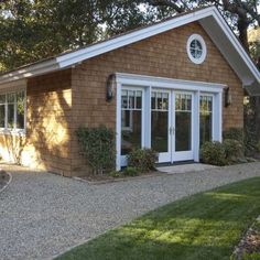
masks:
<instances>
[{"instance_id":1,"label":"white fascia board along the gable's long left slope","mask_svg":"<svg viewBox=\"0 0 260 260\"><path fill-rule=\"evenodd\" d=\"M62 56L56 57L56 61L59 64L59 67L67 67L67 66L71 66L72 64L80 63L90 57L113 51L116 48L129 45L131 43L139 42L141 40L170 31L174 28L178 28L184 24L197 21L199 19L213 15L214 11L216 11L215 9L216 9L215 7L209 7L203 10L198 10L192 13L177 17L175 19L172 19L162 23L158 23L158 24L144 28L144 29L140 29L132 33L118 36L116 39L111 39L102 43L97 43L93 46L78 50L73 53L64 54Z\"/></svg>"}]
</instances>

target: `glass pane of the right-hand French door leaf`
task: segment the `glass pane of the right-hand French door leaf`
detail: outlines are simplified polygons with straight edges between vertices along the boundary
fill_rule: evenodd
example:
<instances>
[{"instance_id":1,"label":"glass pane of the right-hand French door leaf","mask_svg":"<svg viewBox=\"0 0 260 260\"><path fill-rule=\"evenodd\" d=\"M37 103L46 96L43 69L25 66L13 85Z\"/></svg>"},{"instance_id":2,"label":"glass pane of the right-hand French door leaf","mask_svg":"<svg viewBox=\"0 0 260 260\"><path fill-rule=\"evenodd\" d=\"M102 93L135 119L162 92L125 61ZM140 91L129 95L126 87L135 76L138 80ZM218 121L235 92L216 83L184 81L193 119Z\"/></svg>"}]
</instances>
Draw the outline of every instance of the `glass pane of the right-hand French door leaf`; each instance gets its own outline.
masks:
<instances>
[{"instance_id":1,"label":"glass pane of the right-hand French door leaf","mask_svg":"<svg viewBox=\"0 0 260 260\"><path fill-rule=\"evenodd\" d=\"M175 151L192 150L192 95L175 95Z\"/></svg>"}]
</instances>

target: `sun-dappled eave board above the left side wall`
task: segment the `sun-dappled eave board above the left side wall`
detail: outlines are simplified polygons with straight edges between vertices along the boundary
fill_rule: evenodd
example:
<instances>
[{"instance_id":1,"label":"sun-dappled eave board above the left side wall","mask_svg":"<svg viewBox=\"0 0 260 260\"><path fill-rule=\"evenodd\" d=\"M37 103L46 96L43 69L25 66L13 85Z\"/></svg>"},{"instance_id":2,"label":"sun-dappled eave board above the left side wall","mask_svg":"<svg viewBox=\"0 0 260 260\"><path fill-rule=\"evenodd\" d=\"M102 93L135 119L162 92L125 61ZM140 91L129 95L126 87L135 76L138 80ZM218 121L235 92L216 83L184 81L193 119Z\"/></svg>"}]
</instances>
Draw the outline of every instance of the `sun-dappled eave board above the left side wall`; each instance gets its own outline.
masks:
<instances>
[{"instance_id":1,"label":"sun-dappled eave board above the left side wall","mask_svg":"<svg viewBox=\"0 0 260 260\"><path fill-rule=\"evenodd\" d=\"M34 64L28 67L22 67L18 71L13 71L0 76L0 84L13 82L22 78L28 78L32 76L42 75L48 72L54 72L59 69L59 66L55 58L52 58L46 62Z\"/></svg>"}]
</instances>

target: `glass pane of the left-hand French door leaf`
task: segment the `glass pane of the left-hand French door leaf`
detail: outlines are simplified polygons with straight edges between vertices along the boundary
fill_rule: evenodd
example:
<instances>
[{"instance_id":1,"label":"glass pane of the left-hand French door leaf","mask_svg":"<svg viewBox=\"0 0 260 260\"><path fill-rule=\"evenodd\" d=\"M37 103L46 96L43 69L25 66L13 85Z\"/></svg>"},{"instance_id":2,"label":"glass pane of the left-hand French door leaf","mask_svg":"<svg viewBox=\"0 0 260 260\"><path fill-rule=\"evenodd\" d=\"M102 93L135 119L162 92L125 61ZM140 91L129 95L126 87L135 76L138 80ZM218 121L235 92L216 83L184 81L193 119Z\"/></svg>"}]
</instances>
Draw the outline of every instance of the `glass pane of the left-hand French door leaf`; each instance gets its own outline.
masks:
<instances>
[{"instance_id":1,"label":"glass pane of the left-hand French door leaf","mask_svg":"<svg viewBox=\"0 0 260 260\"><path fill-rule=\"evenodd\" d=\"M156 152L169 151L169 94L152 93L152 149Z\"/></svg>"}]
</instances>

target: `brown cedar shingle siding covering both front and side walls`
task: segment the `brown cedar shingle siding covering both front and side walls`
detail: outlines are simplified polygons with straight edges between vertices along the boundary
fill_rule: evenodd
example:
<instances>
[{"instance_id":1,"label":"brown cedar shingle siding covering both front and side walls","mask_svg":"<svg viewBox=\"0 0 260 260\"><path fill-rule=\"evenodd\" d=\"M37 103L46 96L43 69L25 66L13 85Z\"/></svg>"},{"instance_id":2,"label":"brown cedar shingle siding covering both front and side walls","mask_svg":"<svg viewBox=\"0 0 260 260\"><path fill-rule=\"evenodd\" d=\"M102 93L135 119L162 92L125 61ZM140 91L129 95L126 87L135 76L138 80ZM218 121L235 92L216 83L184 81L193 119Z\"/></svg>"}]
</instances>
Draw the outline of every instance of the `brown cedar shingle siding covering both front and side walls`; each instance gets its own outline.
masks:
<instances>
[{"instance_id":1,"label":"brown cedar shingle siding covering both front and side walls","mask_svg":"<svg viewBox=\"0 0 260 260\"><path fill-rule=\"evenodd\" d=\"M193 33L201 34L207 46L201 65L192 63L186 53ZM116 97L106 101L106 80L116 72L226 84L232 104L224 108L224 129L243 126L241 82L194 22L87 59L75 68L29 79L26 138L20 149L26 164L67 176L86 169L75 130L100 123L116 129ZM1 149L7 149L8 138L1 136Z\"/></svg>"}]
</instances>

